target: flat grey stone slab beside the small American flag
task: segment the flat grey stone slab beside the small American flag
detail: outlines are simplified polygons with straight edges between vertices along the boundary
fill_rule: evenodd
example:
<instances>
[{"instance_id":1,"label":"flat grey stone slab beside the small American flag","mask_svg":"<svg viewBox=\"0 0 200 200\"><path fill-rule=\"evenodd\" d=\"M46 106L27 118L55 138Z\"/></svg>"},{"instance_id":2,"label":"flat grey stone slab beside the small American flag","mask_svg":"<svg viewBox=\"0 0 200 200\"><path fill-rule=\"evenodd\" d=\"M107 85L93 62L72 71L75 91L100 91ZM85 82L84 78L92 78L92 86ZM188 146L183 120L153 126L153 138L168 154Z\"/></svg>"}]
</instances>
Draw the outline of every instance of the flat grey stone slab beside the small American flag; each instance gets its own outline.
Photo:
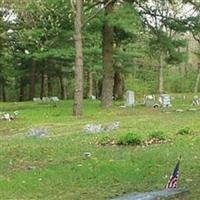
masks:
<instances>
[{"instance_id":1,"label":"flat grey stone slab beside the small American flag","mask_svg":"<svg viewBox=\"0 0 200 200\"><path fill-rule=\"evenodd\" d=\"M187 189L171 188L160 191L144 192L144 193L133 193L123 197L118 197L112 200L157 200L160 198L177 197L189 192Z\"/></svg>"}]
</instances>

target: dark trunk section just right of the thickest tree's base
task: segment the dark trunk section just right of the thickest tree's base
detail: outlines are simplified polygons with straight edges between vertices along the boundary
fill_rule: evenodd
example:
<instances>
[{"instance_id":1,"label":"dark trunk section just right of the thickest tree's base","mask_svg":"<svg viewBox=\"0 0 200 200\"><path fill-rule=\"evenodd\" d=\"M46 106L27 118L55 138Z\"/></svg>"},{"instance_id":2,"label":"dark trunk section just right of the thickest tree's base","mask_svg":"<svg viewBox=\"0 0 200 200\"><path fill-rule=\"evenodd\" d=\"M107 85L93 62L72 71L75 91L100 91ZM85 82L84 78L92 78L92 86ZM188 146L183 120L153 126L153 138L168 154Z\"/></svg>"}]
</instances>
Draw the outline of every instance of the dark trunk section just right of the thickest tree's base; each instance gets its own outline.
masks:
<instances>
[{"instance_id":1,"label":"dark trunk section just right of the thickest tree's base","mask_svg":"<svg viewBox=\"0 0 200 200\"><path fill-rule=\"evenodd\" d=\"M115 99L123 99L123 76L119 72L115 72L114 76L114 97Z\"/></svg>"}]
</instances>

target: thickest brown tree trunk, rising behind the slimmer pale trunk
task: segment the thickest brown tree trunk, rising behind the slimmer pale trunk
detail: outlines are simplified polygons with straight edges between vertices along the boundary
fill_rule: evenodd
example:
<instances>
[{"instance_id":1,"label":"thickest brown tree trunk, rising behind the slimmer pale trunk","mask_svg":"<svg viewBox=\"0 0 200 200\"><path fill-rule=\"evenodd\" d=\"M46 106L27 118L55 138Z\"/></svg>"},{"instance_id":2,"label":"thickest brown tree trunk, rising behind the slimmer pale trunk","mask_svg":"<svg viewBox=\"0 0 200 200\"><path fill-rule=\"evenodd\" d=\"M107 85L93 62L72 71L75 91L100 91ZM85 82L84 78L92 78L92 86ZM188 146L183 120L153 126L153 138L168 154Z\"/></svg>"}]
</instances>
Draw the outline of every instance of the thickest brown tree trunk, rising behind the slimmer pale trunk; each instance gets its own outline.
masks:
<instances>
[{"instance_id":1,"label":"thickest brown tree trunk, rising behind the slimmer pale trunk","mask_svg":"<svg viewBox=\"0 0 200 200\"><path fill-rule=\"evenodd\" d=\"M108 1L108 0L107 0ZM105 3L107 3L105 1ZM112 105L114 68L113 68L113 27L109 25L108 15L112 13L114 2L105 7L105 21L103 26L103 83L101 105L108 108Z\"/></svg>"}]
</instances>

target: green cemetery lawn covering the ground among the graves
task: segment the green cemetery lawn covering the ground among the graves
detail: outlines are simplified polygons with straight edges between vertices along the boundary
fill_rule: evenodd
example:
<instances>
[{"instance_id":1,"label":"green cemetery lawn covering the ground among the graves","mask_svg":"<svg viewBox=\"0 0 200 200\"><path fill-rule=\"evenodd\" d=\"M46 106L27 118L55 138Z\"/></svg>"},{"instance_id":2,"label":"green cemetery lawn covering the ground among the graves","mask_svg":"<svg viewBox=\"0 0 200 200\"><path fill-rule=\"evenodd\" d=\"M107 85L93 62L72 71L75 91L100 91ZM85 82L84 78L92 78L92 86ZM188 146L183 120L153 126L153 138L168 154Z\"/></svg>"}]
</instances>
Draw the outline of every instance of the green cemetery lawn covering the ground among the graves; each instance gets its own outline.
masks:
<instances>
[{"instance_id":1,"label":"green cemetery lawn covering the ground among the graves","mask_svg":"<svg viewBox=\"0 0 200 200\"><path fill-rule=\"evenodd\" d=\"M72 101L49 104L0 103L0 112L19 111L16 120L0 121L0 199L101 200L131 192L163 189L177 157L182 155L179 187L190 193L181 200L200 199L200 111L191 99L177 97L169 109L142 106L102 110L99 101L85 101L84 115L71 116ZM199 109L198 107L196 107ZM120 122L110 133L86 134L88 123ZM26 137L29 128L47 127L42 138ZM178 135L188 127L191 133ZM127 133L142 138L164 132L170 142L142 145L100 145ZM91 158L85 158L90 152Z\"/></svg>"}]
</instances>

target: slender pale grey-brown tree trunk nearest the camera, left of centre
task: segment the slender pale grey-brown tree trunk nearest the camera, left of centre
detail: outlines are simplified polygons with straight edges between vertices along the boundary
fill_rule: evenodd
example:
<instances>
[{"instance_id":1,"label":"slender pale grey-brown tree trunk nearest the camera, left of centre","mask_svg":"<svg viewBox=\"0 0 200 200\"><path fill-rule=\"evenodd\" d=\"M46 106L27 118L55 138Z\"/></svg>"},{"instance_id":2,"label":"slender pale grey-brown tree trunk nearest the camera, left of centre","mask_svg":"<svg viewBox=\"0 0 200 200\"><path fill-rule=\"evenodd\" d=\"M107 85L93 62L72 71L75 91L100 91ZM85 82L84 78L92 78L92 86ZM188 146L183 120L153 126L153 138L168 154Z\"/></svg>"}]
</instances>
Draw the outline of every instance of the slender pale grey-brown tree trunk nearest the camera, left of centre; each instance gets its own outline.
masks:
<instances>
[{"instance_id":1,"label":"slender pale grey-brown tree trunk nearest the camera, left of centre","mask_svg":"<svg viewBox=\"0 0 200 200\"><path fill-rule=\"evenodd\" d=\"M75 93L74 93L74 109L75 116L82 115L83 104L83 49L81 35L81 10L82 0L76 0L76 16L74 21L75 26Z\"/></svg>"}]
</instances>

